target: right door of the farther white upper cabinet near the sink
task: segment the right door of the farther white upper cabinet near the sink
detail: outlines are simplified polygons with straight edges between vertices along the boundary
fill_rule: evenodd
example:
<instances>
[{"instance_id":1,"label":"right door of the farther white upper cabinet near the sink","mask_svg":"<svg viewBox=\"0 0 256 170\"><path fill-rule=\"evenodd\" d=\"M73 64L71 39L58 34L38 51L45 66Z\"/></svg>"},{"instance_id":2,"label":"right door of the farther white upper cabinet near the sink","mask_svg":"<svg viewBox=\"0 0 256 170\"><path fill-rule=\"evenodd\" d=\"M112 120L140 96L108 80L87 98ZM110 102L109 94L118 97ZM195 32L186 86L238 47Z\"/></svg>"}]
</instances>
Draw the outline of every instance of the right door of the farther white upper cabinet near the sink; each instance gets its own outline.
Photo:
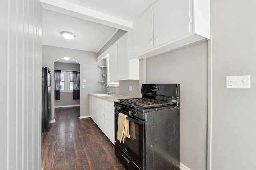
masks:
<instances>
[{"instance_id":1,"label":"right door of the farther white upper cabinet near the sink","mask_svg":"<svg viewBox=\"0 0 256 170\"><path fill-rule=\"evenodd\" d=\"M117 43L117 78L128 78L128 36L125 35Z\"/></svg>"}]
</instances>

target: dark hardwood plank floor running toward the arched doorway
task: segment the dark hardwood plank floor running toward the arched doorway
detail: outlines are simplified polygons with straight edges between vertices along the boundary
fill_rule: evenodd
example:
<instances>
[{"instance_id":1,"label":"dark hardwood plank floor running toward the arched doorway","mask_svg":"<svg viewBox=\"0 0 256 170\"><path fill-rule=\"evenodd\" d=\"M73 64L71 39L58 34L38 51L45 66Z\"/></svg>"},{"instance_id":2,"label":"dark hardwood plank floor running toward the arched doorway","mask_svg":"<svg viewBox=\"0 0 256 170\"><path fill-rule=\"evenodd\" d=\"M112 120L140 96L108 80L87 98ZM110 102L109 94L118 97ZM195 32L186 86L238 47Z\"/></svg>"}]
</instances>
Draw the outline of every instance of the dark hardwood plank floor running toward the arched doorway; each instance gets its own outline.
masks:
<instances>
[{"instance_id":1,"label":"dark hardwood plank floor running toward the arched doorway","mask_svg":"<svg viewBox=\"0 0 256 170\"><path fill-rule=\"evenodd\" d=\"M44 170L125 170L114 145L91 118L79 119L80 107L55 109L55 123L42 133Z\"/></svg>"}]
</instances>

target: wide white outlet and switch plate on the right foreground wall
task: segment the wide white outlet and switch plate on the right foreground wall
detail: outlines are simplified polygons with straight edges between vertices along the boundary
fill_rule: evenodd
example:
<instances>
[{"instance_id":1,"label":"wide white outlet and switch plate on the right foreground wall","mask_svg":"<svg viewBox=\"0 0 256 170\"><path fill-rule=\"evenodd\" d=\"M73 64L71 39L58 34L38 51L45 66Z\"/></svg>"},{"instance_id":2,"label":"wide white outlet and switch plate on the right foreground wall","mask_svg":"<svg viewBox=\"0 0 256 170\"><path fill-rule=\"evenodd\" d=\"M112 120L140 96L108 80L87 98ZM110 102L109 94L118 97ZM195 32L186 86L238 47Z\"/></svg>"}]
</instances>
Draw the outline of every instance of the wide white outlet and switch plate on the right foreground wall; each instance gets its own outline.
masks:
<instances>
[{"instance_id":1,"label":"wide white outlet and switch plate on the right foreground wall","mask_svg":"<svg viewBox=\"0 0 256 170\"><path fill-rule=\"evenodd\" d=\"M250 75L226 77L226 88L251 88Z\"/></svg>"}]
</instances>

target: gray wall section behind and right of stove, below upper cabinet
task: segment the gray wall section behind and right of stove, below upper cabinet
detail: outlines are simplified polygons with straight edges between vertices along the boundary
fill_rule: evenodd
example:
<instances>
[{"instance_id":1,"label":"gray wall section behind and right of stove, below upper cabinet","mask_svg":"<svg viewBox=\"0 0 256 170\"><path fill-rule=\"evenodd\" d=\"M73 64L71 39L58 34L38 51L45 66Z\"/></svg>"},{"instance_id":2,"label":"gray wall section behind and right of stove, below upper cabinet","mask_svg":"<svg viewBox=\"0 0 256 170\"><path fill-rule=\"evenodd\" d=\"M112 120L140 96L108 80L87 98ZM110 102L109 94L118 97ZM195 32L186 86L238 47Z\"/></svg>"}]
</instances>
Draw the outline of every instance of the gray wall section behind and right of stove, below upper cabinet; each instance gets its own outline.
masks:
<instances>
[{"instance_id":1,"label":"gray wall section behind and right of stove, below upper cabinet","mask_svg":"<svg viewBox=\"0 0 256 170\"><path fill-rule=\"evenodd\" d=\"M180 161L191 170L207 162L207 53L204 41L146 60L148 84L180 84Z\"/></svg>"}]
</instances>

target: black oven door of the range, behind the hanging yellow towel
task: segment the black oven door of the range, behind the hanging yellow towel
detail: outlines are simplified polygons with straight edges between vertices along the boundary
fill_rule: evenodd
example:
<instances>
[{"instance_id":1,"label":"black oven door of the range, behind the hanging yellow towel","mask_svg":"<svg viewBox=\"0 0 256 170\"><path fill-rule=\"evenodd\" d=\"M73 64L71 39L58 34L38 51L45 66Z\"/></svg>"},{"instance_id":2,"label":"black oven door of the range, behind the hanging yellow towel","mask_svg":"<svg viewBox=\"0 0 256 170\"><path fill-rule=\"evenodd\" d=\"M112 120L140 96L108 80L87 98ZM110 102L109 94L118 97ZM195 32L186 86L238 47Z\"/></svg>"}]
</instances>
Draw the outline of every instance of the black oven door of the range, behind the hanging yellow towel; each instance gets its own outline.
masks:
<instances>
[{"instance_id":1,"label":"black oven door of the range, behind the hanging yellow towel","mask_svg":"<svg viewBox=\"0 0 256 170\"><path fill-rule=\"evenodd\" d=\"M127 115L129 120L130 138L124 139L124 143L117 139L118 114ZM115 109L115 145L118 145L141 169L144 163L144 123L145 121ZM134 135L131 132L134 131Z\"/></svg>"}]
</instances>

